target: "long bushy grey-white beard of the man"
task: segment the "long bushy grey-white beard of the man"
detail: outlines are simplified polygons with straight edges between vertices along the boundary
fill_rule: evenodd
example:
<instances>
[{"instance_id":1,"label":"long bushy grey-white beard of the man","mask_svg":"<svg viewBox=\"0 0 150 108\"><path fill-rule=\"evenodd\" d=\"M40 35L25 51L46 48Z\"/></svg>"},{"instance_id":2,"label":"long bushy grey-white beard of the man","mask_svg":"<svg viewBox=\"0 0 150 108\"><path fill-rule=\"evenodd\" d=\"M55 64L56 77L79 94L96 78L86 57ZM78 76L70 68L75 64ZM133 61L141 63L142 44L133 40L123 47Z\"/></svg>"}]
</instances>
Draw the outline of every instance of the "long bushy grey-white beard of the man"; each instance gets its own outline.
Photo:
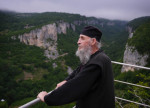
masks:
<instances>
[{"instance_id":1,"label":"long bushy grey-white beard of the man","mask_svg":"<svg viewBox=\"0 0 150 108\"><path fill-rule=\"evenodd\" d=\"M92 47L90 45L85 46L84 48L78 49L76 51L76 56L79 57L80 62L83 65L86 64L89 61L89 59L91 57L91 54L92 54Z\"/></svg>"}]
</instances>

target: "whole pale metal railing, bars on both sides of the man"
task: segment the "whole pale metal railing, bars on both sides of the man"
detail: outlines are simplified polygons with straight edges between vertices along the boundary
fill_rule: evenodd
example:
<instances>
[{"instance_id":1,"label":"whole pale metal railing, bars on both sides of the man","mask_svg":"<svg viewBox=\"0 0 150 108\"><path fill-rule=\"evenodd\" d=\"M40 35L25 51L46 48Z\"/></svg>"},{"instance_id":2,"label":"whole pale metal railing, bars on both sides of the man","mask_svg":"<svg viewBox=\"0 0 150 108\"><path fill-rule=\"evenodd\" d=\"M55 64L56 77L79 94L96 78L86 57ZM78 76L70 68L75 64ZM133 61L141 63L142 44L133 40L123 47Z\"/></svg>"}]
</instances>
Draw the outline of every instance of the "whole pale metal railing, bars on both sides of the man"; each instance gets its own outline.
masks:
<instances>
[{"instance_id":1,"label":"whole pale metal railing, bars on both sides of the man","mask_svg":"<svg viewBox=\"0 0 150 108\"><path fill-rule=\"evenodd\" d=\"M131 67L136 67L136 68L141 68L141 69L147 69L147 70L150 70L149 67L144 67L144 66L137 66L137 65L131 65L131 64L126 64L126 63L120 63L120 62L116 62L116 61L111 61L112 63L114 64L120 64L120 65L125 65L125 66L131 66ZM150 87L147 87L147 86L142 86L142 85L138 85L138 84L133 84L133 83L129 83L129 82L124 82L124 81L120 81L120 80L114 80L115 82L119 82L119 83L123 83L123 84L128 84L128 85L132 85L132 86L137 86L137 87L142 87L142 88L146 88L146 89L150 89ZM52 91L50 91L48 94L50 94ZM135 102L135 101L131 101L131 100L127 100L127 99L123 99L123 98L120 98L120 97L115 97L115 99L119 99L119 100L122 100L122 101L126 101L126 102L130 102L130 103L134 103L134 104L138 104L138 105L141 105L141 106L145 106L145 107L149 107L150 108L150 105L146 105L146 104L143 104L143 103L138 103L138 102ZM38 102L40 102L41 100L39 98L36 98L22 106L20 106L19 108L28 108Z\"/></svg>"}]
</instances>

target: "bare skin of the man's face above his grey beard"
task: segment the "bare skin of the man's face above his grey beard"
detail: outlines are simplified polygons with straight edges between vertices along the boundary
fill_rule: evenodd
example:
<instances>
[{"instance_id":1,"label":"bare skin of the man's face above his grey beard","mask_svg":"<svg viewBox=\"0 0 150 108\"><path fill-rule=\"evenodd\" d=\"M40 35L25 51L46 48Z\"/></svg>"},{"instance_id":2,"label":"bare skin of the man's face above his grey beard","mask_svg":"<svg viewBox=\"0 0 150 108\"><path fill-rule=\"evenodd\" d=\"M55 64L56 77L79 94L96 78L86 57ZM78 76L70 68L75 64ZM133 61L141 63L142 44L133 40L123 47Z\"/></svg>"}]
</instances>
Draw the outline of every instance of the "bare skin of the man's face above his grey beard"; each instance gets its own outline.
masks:
<instances>
[{"instance_id":1,"label":"bare skin of the man's face above his grey beard","mask_svg":"<svg viewBox=\"0 0 150 108\"><path fill-rule=\"evenodd\" d=\"M85 48L90 45L90 37L85 35L80 35L79 40L77 42L78 44L78 50L81 50L82 48Z\"/></svg>"}]
</instances>

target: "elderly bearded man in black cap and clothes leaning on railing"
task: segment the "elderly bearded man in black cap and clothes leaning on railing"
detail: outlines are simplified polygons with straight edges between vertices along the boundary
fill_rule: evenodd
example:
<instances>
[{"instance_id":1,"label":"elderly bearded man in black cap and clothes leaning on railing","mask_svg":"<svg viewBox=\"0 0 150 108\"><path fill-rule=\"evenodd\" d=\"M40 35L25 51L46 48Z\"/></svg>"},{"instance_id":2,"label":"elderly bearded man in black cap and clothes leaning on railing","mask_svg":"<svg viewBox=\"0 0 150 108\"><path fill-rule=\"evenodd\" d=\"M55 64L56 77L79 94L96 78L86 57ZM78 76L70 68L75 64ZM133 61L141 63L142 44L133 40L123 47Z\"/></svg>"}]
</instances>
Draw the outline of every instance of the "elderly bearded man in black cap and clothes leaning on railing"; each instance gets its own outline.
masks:
<instances>
[{"instance_id":1,"label":"elderly bearded man in black cap and clothes leaning on railing","mask_svg":"<svg viewBox=\"0 0 150 108\"><path fill-rule=\"evenodd\" d=\"M85 27L77 42L81 65L51 93L38 97L50 106L76 101L75 108L115 108L111 61L100 49L101 31Z\"/></svg>"}]
</instances>

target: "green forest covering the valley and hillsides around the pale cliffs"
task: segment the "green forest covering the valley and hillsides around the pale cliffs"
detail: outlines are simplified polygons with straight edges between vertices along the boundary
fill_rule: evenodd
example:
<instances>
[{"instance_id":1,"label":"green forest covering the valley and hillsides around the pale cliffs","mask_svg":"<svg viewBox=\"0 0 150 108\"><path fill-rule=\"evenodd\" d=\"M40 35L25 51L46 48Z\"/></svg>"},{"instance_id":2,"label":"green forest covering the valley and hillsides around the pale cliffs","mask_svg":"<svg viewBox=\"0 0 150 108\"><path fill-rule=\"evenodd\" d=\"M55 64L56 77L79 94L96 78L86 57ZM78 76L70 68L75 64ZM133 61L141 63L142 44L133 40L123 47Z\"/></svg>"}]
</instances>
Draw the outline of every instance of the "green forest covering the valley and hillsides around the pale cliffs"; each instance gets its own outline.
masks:
<instances>
[{"instance_id":1,"label":"green forest covering the valley and hillsides around the pale cliffs","mask_svg":"<svg viewBox=\"0 0 150 108\"><path fill-rule=\"evenodd\" d=\"M59 54L67 53L66 56L57 59L48 59L44 56L44 49L37 46L30 46L21 43L19 39L12 39L12 36L30 32L43 25L60 21L73 24L74 22L96 21L94 26L103 31L102 49L113 61L123 62L125 45L128 42L135 46L140 53L149 52L149 18L146 20L111 21L94 17L85 17L79 14L45 12L45 13L15 13L0 11L0 108L15 108L36 98L40 91L51 91L57 83L68 76L67 66L75 69L79 64L79 59L75 56L77 50L77 40L80 30L87 24L76 25L76 30L67 29L66 34L58 34L57 49ZM143 18L145 19L145 18ZM108 23L114 25L108 25ZM137 25L137 22L140 22ZM103 27L99 25L103 23ZM29 28L25 28L26 26ZM128 40L126 26L130 25L135 30L135 36ZM144 38L141 37L144 36ZM141 41L143 40L143 41ZM144 47L146 46L146 47ZM61 50L60 50L61 49ZM53 64L57 67L53 67ZM148 59L147 67L150 67ZM121 65L113 64L114 79L150 86L150 74L148 71L139 70L135 72L121 73ZM115 83L115 95L126 99L141 102L134 96L134 90L144 100L145 104L150 104L150 92L138 87L127 86ZM70 108L75 103L63 106L53 106L51 108ZM138 105L122 102L124 108ZM119 103L116 106L120 108ZM31 108L48 108L42 102Z\"/></svg>"}]
</instances>

